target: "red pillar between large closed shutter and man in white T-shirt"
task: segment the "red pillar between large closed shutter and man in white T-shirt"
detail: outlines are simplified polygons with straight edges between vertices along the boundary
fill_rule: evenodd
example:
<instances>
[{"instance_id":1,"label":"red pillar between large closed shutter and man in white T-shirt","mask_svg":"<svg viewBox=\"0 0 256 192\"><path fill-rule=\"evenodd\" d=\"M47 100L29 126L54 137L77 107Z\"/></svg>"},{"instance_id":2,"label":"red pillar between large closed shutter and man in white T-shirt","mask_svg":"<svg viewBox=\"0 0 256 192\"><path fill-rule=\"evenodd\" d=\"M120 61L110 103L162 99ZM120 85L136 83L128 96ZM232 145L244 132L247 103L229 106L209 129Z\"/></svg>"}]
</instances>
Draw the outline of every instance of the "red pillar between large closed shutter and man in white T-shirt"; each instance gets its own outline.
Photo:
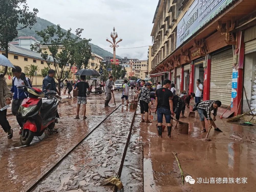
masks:
<instances>
[{"instance_id":1,"label":"red pillar between large closed shutter and man in white T-shirt","mask_svg":"<svg viewBox=\"0 0 256 192\"><path fill-rule=\"evenodd\" d=\"M211 79L211 58L207 59L207 67L204 69L204 101L210 99L210 79Z\"/></svg>"}]
</instances>

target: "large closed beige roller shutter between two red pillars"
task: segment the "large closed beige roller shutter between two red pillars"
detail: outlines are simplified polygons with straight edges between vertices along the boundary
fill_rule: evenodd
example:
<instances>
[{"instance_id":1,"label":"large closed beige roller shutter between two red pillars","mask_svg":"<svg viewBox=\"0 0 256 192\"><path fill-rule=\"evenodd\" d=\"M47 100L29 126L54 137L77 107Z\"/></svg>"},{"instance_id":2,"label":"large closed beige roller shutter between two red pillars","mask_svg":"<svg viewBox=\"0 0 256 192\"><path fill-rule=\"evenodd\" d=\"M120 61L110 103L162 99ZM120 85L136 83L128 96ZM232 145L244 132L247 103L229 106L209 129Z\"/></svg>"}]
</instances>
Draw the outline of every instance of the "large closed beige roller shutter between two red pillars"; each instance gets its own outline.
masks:
<instances>
[{"instance_id":1,"label":"large closed beige roller shutter between two red pillars","mask_svg":"<svg viewBox=\"0 0 256 192\"><path fill-rule=\"evenodd\" d=\"M210 100L221 101L223 107L228 107L231 103L232 72L232 49L211 57Z\"/></svg>"}]
</instances>

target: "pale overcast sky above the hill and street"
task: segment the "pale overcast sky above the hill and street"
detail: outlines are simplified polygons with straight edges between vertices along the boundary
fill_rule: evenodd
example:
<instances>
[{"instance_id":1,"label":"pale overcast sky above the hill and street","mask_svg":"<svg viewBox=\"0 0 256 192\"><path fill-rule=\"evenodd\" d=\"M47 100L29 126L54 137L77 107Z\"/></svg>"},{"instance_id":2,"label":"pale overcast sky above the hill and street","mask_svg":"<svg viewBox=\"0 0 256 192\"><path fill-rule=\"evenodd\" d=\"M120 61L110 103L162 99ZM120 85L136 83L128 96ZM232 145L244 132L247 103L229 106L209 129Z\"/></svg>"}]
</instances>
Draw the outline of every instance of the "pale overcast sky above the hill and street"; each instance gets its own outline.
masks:
<instances>
[{"instance_id":1,"label":"pale overcast sky above the hill and street","mask_svg":"<svg viewBox=\"0 0 256 192\"><path fill-rule=\"evenodd\" d=\"M38 16L64 29L83 28L82 37L111 51L106 37L115 27L119 48L151 45L152 21L158 0L27 0L30 9L37 8ZM147 49L117 49L121 57L147 60ZM111 51L113 52L113 51Z\"/></svg>"}]
</instances>

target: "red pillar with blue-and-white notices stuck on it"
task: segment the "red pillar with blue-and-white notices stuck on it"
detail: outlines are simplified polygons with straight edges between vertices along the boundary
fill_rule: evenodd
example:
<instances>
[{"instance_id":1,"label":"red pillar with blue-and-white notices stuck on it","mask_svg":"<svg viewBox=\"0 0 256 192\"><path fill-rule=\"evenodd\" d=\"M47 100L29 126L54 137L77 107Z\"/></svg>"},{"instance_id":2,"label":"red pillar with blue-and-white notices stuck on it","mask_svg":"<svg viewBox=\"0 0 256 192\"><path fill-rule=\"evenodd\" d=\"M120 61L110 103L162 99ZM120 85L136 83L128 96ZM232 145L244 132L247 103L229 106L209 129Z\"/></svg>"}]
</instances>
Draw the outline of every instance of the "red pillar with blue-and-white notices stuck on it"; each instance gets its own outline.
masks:
<instances>
[{"instance_id":1,"label":"red pillar with blue-and-white notices stuck on it","mask_svg":"<svg viewBox=\"0 0 256 192\"><path fill-rule=\"evenodd\" d=\"M241 46L240 45L241 38ZM242 113L242 101L243 98L243 66L244 66L244 37L241 31L237 35L237 50L235 50L235 54L239 54L238 66L236 69L233 69L233 78L236 78L237 73L237 88L234 88L236 91L236 97L233 98L233 104L231 105L231 111L234 111L234 116ZM236 52L237 51L237 52ZM240 103L240 105L239 105ZM239 105L239 106L238 106Z\"/></svg>"}]
</instances>

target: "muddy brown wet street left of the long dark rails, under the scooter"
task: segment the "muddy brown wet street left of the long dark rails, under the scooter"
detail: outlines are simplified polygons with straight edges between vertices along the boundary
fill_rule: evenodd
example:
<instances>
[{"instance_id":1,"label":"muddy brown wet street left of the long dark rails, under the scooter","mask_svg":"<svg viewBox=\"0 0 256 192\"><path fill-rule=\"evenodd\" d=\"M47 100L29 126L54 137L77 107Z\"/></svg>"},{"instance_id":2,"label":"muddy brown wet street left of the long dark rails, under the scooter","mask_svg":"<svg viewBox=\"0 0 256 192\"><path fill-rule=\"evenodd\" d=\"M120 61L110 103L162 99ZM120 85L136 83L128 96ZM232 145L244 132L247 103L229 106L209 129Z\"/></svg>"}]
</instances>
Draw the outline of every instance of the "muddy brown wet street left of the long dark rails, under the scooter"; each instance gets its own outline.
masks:
<instances>
[{"instance_id":1,"label":"muddy brown wet street left of the long dark rails, under the scooter","mask_svg":"<svg viewBox=\"0 0 256 192\"><path fill-rule=\"evenodd\" d=\"M117 104L121 104L120 98L121 91L115 92ZM26 147L20 144L15 117L8 116L14 136L7 140L7 135L0 130L0 191L26 191L116 108L113 99L110 105L111 108L104 108L104 93L91 94L86 112L88 119L84 121L74 120L76 98L60 103L58 111L61 118L55 127L59 133L46 135L45 138L34 137L31 145Z\"/></svg>"}]
</instances>

